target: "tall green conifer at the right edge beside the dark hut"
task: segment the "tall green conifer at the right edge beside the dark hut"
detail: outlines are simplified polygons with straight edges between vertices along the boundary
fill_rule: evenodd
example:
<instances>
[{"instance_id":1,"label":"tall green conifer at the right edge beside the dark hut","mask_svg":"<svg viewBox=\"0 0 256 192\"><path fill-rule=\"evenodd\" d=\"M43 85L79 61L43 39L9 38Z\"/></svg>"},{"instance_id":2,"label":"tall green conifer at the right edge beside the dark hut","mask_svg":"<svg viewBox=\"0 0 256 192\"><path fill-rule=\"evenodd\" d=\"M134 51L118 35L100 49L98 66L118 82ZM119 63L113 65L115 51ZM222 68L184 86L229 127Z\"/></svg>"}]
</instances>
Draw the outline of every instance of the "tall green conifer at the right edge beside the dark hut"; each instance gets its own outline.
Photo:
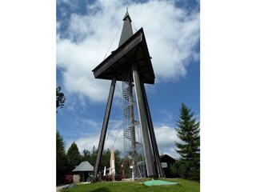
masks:
<instances>
[{"instance_id":1,"label":"tall green conifer at the right edge beside the dark hut","mask_svg":"<svg viewBox=\"0 0 256 192\"><path fill-rule=\"evenodd\" d=\"M200 180L200 122L194 113L182 103L179 119L176 122L177 136L182 143L175 142L180 155L179 163L185 167L184 177Z\"/></svg>"}]
</instances>

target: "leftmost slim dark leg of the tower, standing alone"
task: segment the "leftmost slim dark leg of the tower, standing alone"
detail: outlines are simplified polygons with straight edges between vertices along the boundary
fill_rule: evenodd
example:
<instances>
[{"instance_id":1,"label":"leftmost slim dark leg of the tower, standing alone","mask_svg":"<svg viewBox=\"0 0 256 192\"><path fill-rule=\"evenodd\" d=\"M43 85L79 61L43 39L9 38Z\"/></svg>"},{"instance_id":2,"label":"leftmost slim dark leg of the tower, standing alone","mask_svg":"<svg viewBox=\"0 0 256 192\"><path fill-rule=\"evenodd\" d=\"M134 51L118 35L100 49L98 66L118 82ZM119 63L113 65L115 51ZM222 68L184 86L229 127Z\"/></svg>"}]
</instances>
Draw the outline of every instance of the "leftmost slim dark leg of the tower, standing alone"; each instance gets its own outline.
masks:
<instances>
[{"instance_id":1,"label":"leftmost slim dark leg of the tower, standing alone","mask_svg":"<svg viewBox=\"0 0 256 192\"><path fill-rule=\"evenodd\" d=\"M99 163L101 162L102 151L104 149L106 130L107 130L107 126L108 126L109 119L110 119L110 110L111 110L113 96L114 96L115 83L116 83L116 78L113 78L112 82L111 82L111 86L110 86L109 98L107 99L106 111L105 111L104 121L102 124L102 133L101 133L100 140L98 142L98 154L97 154L97 159L96 159L96 163L95 163L95 167L94 167L94 180L98 174L98 166L99 166Z\"/></svg>"}]
</instances>

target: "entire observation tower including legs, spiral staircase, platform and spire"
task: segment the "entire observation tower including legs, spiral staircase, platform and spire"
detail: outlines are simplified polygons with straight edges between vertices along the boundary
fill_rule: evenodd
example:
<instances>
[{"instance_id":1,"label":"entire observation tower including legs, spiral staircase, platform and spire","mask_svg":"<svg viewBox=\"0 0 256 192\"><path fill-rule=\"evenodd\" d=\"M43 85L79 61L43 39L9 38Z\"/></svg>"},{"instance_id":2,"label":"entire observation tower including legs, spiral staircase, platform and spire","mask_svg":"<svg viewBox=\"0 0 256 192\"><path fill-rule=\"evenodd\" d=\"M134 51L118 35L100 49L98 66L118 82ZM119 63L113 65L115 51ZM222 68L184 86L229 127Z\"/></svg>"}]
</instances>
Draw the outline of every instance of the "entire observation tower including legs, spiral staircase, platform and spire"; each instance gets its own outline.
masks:
<instances>
[{"instance_id":1,"label":"entire observation tower including legs, spiral staircase, platform and spire","mask_svg":"<svg viewBox=\"0 0 256 192\"><path fill-rule=\"evenodd\" d=\"M106 130L110 118L114 89L117 81L122 82L124 143L130 143L127 153L130 153L131 165L134 167L134 177L142 174L138 169L137 150L142 148L146 164L147 177L162 178L163 171L154 134L150 107L146 98L144 84L154 84L154 70L146 38L141 28L133 34L131 18L126 10L123 18L122 34L118 48L103 62L94 68L94 78L111 80L110 92L106 103L106 112L102 123L102 132L98 143L98 155L94 167L94 177L98 174L102 151L106 139ZM134 118L134 110L138 111L138 120ZM140 140L136 138L136 127L140 130Z\"/></svg>"}]
</instances>

